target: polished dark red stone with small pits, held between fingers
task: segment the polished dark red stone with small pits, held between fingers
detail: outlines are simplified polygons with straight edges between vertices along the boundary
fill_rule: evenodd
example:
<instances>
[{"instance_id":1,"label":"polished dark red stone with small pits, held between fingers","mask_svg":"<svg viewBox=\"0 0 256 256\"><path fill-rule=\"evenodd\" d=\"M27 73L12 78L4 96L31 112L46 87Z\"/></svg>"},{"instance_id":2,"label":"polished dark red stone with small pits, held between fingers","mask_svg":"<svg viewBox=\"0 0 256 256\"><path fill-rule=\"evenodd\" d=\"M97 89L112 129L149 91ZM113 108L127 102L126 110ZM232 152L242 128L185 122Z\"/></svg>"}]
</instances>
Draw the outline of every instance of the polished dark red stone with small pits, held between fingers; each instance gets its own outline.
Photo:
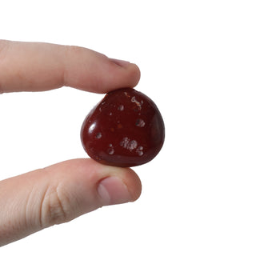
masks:
<instances>
[{"instance_id":1,"label":"polished dark red stone with small pits, held between fingers","mask_svg":"<svg viewBox=\"0 0 256 256\"><path fill-rule=\"evenodd\" d=\"M109 166L139 166L161 150L165 126L158 107L131 88L114 90L82 124L82 146L90 158Z\"/></svg>"}]
</instances>

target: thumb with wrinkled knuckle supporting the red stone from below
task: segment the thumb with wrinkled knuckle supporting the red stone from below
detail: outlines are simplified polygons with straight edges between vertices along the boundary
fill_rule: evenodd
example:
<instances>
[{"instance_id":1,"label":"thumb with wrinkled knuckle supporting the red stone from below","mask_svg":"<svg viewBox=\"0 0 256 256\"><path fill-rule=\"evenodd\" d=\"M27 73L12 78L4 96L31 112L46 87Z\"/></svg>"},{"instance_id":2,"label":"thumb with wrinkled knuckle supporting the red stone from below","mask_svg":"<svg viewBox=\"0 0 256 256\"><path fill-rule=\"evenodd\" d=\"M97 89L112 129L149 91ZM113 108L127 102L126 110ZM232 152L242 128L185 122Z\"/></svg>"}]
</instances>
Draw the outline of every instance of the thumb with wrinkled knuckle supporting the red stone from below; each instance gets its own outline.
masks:
<instances>
[{"instance_id":1,"label":"thumb with wrinkled knuckle supporting the red stone from below","mask_svg":"<svg viewBox=\"0 0 256 256\"><path fill-rule=\"evenodd\" d=\"M0 182L0 246L141 193L133 170L75 159Z\"/></svg>"}]
</instances>

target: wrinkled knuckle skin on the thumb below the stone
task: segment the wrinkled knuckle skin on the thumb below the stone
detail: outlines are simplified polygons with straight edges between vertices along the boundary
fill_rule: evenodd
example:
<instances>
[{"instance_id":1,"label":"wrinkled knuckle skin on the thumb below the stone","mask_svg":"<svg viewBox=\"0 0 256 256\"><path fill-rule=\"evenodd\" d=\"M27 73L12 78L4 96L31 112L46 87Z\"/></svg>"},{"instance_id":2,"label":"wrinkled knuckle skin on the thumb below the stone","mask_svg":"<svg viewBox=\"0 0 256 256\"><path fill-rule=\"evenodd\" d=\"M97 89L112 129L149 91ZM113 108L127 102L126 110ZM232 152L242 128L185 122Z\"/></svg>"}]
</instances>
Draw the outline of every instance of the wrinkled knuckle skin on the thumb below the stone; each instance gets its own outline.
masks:
<instances>
[{"instance_id":1,"label":"wrinkled knuckle skin on the thumb below the stone","mask_svg":"<svg viewBox=\"0 0 256 256\"><path fill-rule=\"evenodd\" d=\"M70 200L62 186L47 188L42 198L42 228L70 221L70 208Z\"/></svg>"}]
</instances>

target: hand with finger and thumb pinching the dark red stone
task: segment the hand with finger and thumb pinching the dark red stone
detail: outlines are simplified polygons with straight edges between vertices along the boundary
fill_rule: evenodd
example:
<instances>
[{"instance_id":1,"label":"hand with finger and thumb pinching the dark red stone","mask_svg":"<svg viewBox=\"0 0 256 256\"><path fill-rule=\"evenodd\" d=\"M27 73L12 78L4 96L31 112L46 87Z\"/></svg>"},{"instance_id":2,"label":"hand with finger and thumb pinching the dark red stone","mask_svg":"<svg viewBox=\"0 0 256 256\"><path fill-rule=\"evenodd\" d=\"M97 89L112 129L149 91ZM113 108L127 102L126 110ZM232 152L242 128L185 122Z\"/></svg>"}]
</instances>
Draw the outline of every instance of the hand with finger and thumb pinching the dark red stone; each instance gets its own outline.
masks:
<instances>
[{"instance_id":1,"label":"hand with finger and thumb pinching the dark red stone","mask_svg":"<svg viewBox=\"0 0 256 256\"><path fill-rule=\"evenodd\" d=\"M76 46L0 40L0 93L72 86L95 93L135 86L138 66ZM1 95L0 95L1 97ZM98 207L136 200L129 168L74 159L0 182L0 246Z\"/></svg>"}]
</instances>

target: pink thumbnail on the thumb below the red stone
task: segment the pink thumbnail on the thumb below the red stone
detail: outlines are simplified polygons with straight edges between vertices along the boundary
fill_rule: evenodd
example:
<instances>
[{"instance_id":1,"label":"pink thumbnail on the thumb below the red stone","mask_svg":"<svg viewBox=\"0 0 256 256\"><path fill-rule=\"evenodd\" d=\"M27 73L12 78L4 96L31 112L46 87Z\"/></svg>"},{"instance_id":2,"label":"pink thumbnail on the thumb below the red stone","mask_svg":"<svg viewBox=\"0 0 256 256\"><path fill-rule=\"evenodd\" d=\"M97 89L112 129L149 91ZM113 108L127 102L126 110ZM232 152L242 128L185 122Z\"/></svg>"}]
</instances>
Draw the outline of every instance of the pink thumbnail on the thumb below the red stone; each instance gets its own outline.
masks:
<instances>
[{"instance_id":1,"label":"pink thumbnail on the thumb below the red stone","mask_svg":"<svg viewBox=\"0 0 256 256\"><path fill-rule=\"evenodd\" d=\"M130 202L131 200L127 186L118 177L103 179L98 185L98 194L106 206Z\"/></svg>"}]
</instances>

